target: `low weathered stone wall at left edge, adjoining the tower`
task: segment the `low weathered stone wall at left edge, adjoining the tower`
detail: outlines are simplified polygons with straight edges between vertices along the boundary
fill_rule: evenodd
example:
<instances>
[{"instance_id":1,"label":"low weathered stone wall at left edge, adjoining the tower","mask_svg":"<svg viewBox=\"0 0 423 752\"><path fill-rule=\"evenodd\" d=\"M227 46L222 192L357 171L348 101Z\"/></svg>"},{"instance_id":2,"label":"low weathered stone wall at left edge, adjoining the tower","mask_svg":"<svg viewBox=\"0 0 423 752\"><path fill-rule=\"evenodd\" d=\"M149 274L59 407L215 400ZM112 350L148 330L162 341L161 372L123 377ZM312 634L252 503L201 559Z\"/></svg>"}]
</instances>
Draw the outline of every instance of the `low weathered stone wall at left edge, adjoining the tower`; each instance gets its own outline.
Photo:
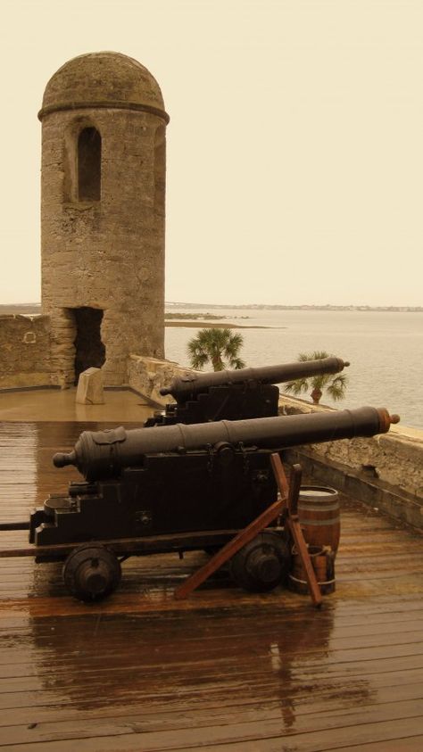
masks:
<instances>
[{"instance_id":1,"label":"low weathered stone wall at left edge, adjoining the tower","mask_svg":"<svg viewBox=\"0 0 423 752\"><path fill-rule=\"evenodd\" d=\"M50 384L49 318L0 316L0 388Z\"/></svg>"}]
</instances>

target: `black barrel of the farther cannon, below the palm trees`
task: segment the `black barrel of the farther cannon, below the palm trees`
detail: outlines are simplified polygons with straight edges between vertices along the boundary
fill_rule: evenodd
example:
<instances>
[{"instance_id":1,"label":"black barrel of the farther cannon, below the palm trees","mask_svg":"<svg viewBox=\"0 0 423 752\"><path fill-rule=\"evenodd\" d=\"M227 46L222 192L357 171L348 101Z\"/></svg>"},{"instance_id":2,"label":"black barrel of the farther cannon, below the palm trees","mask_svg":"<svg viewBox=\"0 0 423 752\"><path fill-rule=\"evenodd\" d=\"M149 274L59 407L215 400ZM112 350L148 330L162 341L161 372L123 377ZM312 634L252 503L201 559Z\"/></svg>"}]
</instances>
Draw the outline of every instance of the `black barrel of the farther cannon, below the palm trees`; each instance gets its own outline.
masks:
<instances>
[{"instance_id":1,"label":"black barrel of the farther cannon, below the palm trees","mask_svg":"<svg viewBox=\"0 0 423 752\"><path fill-rule=\"evenodd\" d=\"M172 379L160 393L171 394L177 401L194 400L196 395L210 389L211 386L223 384L282 384L294 378L307 378L319 374L337 374L350 364L341 358L322 358L318 360L297 360L280 366L262 366L261 368L239 368L234 371L211 371L204 374L187 374Z\"/></svg>"}]
</instances>

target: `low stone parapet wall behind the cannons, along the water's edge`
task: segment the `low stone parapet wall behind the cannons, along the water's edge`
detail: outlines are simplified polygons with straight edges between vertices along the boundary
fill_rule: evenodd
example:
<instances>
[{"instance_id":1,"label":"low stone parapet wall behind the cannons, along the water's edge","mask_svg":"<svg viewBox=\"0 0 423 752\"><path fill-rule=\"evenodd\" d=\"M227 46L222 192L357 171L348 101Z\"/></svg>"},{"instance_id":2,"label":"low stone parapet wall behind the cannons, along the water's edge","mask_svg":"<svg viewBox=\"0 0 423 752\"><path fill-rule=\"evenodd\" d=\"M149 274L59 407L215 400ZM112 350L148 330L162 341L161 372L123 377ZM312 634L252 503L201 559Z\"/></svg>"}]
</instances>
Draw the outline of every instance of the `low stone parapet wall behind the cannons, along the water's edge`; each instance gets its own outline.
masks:
<instances>
[{"instance_id":1,"label":"low stone parapet wall behind the cannons, along the water's edge","mask_svg":"<svg viewBox=\"0 0 423 752\"><path fill-rule=\"evenodd\" d=\"M170 360L132 355L129 385L158 407L171 401L159 389L173 376L189 372ZM281 395L281 414L328 410L303 400ZM373 507L416 527L423 528L423 431L391 426L389 434L371 439L343 439L312 444L286 452L287 459L300 461L319 482L330 483Z\"/></svg>"}]
</instances>

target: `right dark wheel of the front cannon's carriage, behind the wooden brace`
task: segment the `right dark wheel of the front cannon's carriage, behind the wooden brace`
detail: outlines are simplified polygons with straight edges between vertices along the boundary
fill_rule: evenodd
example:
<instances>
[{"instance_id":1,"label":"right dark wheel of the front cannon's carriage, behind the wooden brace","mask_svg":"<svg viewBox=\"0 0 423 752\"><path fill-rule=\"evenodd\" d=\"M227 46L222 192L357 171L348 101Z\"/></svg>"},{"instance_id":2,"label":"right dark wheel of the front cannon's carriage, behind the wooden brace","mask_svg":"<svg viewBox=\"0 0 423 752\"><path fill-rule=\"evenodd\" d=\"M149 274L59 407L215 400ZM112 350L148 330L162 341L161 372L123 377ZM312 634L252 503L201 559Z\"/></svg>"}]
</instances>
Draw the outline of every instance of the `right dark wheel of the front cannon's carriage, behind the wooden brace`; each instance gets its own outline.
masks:
<instances>
[{"instance_id":1,"label":"right dark wheel of the front cannon's carriage, behind the wooden brace","mask_svg":"<svg viewBox=\"0 0 423 752\"><path fill-rule=\"evenodd\" d=\"M241 588L267 592L276 588L289 574L291 553L278 533L259 533L230 560L230 574Z\"/></svg>"}]
</instances>

